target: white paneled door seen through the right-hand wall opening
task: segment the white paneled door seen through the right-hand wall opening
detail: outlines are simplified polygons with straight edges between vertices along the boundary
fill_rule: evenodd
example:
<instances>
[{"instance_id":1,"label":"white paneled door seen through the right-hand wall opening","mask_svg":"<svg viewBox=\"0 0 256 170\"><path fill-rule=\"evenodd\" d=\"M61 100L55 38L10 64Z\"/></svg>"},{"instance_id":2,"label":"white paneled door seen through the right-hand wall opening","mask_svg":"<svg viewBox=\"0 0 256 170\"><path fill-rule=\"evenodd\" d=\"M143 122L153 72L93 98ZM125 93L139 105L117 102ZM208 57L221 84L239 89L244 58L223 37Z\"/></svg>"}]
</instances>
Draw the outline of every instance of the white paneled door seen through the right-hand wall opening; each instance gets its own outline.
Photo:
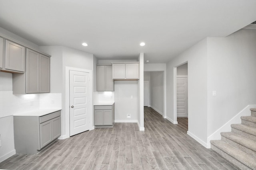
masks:
<instances>
[{"instance_id":1,"label":"white paneled door seen through the right-hand wall opening","mask_svg":"<svg viewBox=\"0 0 256 170\"><path fill-rule=\"evenodd\" d=\"M188 77L177 77L177 117L188 117Z\"/></svg>"}]
</instances>

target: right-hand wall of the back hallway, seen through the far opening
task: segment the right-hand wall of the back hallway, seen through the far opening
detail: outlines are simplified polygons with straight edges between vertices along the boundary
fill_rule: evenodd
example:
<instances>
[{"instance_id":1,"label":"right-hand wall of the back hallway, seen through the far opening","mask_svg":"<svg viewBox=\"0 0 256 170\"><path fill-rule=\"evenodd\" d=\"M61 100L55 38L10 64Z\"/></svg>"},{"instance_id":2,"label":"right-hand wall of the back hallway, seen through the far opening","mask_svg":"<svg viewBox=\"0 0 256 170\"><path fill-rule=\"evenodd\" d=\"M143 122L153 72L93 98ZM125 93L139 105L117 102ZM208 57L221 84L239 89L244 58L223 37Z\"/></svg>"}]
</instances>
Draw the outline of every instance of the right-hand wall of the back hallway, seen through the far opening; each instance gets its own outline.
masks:
<instances>
[{"instance_id":1,"label":"right-hand wall of the back hallway, seen through the far opening","mask_svg":"<svg viewBox=\"0 0 256 170\"><path fill-rule=\"evenodd\" d=\"M164 72L150 72L150 106L164 115Z\"/></svg>"}]
</instances>

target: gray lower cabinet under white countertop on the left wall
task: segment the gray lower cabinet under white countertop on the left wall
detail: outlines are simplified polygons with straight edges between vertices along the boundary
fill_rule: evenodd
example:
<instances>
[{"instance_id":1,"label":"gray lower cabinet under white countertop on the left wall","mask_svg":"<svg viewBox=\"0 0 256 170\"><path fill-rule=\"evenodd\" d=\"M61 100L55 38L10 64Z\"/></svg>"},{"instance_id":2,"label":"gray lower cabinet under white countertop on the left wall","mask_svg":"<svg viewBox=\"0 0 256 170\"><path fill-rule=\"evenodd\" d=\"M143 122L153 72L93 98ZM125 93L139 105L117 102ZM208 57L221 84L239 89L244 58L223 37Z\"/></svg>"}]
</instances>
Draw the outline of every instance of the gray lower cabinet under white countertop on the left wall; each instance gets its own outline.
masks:
<instances>
[{"instance_id":1,"label":"gray lower cabinet under white countertop on the left wall","mask_svg":"<svg viewBox=\"0 0 256 170\"><path fill-rule=\"evenodd\" d=\"M36 154L60 136L60 111L43 116L14 115L16 153Z\"/></svg>"}]
</instances>

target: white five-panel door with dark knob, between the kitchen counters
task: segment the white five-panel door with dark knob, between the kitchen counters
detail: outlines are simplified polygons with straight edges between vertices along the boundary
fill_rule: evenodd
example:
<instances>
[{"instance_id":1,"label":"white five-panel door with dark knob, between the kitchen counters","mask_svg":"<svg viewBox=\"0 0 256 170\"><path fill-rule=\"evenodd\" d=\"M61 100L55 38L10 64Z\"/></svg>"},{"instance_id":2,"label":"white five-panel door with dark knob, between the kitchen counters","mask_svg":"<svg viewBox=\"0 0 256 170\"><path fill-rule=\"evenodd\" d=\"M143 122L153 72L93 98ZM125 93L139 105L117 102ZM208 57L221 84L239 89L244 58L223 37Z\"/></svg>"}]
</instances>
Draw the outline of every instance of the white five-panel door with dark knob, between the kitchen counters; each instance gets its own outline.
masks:
<instances>
[{"instance_id":1,"label":"white five-panel door with dark knob, between the kitchen counters","mask_svg":"<svg viewBox=\"0 0 256 170\"><path fill-rule=\"evenodd\" d=\"M69 71L70 136L89 130L90 77L88 72Z\"/></svg>"}]
</instances>

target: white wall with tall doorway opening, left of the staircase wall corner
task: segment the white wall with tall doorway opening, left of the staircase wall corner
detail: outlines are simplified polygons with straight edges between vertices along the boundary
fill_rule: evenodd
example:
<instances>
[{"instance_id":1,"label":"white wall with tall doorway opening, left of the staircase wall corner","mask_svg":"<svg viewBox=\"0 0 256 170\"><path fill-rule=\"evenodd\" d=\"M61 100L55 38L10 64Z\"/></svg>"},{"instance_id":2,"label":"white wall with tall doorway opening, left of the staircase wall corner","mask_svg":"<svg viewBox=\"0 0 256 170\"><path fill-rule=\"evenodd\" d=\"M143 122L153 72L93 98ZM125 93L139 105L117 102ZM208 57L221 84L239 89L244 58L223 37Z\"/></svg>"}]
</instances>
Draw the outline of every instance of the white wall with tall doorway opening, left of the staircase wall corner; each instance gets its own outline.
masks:
<instances>
[{"instance_id":1,"label":"white wall with tall doorway opening, left of the staircase wall corner","mask_svg":"<svg viewBox=\"0 0 256 170\"><path fill-rule=\"evenodd\" d=\"M207 142L207 40L204 39L166 64L167 118L177 121L176 68L188 62L188 134ZM175 82L175 84L174 84ZM174 95L175 94L175 95ZM200 123L198 123L200 122Z\"/></svg>"}]
</instances>

